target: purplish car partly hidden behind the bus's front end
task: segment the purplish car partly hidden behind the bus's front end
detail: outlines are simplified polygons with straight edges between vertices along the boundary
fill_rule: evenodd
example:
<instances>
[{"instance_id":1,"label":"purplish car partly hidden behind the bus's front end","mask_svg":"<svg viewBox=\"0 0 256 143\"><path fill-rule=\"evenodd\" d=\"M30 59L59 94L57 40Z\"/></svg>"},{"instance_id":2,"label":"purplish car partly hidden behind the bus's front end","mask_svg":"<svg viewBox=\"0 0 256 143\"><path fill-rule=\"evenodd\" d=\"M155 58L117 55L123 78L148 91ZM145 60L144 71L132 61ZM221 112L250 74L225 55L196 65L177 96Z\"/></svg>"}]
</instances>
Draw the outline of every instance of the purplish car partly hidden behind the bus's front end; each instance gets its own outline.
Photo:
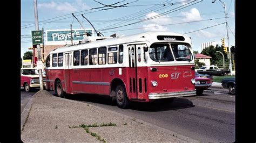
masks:
<instances>
[{"instance_id":1,"label":"purplish car partly hidden behind the bus's front end","mask_svg":"<svg viewBox=\"0 0 256 143\"><path fill-rule=\"evenodd\" d=\"M204 90L208 89L212 85L212 76L206 74L199 74L196 71L195 75L197 95L202 95Z\"/></svg>"}]
</instances>

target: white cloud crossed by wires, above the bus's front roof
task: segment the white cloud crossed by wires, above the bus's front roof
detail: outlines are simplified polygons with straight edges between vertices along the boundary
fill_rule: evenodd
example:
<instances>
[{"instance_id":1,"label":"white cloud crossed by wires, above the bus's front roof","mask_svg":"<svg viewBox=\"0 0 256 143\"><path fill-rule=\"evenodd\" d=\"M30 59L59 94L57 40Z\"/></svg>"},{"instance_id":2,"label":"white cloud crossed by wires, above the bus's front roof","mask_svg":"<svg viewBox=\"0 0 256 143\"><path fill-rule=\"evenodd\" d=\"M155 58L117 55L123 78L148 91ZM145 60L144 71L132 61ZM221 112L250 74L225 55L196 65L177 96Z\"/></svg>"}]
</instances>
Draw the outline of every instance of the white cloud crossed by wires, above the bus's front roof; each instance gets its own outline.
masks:
<instances>
[{"instance_id":1,"label":"white cloud crossed by wires, above the bus's front roof","mask_svg":"<svg viewBox=\"0 0 256 143\"><path fill-rule=\"evenodd\" d=\"M159 13L151 12L146 15L146 18L151 18L157 15L159 15ZM157 18L150 19L146 21L146 23L147 24L143 25L145 31L166 31L168 30L167 27L159 25L171 24L171 18L169 18L169 16L160 16Z\"/></svg>"}]
</instances>

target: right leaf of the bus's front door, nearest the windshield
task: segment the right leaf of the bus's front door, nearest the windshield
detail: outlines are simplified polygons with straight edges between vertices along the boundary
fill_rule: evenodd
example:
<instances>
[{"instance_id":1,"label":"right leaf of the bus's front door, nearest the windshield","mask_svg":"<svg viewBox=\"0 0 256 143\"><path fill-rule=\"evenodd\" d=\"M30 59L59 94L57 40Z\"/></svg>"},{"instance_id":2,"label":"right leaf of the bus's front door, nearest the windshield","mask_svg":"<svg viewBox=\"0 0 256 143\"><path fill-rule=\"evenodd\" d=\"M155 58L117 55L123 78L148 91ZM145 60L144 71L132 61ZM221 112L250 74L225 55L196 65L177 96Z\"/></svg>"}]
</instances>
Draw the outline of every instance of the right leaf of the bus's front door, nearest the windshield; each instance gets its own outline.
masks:
<instances>
[{"instance_id":1,"label":"right leaf of the bus's front door, nearest the windshield","mask_svg":"<svg viewBox=\"0 0 256 143\"><path fill-rule=\"evenodd\" d=\"M147 99L147 67L145 51L146 44L138 44L136 47L136 78L137 78L137 98Z\"/></svg>"}]
</instances>

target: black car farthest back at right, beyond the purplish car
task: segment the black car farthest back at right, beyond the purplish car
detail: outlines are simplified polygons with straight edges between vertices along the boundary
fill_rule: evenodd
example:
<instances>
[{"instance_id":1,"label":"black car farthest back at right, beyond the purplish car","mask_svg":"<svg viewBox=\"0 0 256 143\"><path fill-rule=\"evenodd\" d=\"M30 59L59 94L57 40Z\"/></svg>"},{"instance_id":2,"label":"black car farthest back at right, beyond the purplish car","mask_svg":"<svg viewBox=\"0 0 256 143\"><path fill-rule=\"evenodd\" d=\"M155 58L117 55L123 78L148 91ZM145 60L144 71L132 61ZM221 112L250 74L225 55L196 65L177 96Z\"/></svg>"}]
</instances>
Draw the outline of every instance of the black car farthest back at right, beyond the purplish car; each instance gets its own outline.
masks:
<instances>
[{"instance_id":1,"label":"black car farthest back at right, beyond the purplish car","mask_svg":"<svg viewBox=\"0 0 256 143\"><path fill-rule=\"evenodd\" d=\"M218 68L217 66L203 66L196 69L199 74L208 75L227 75L230 74L230 69Z\"/></svg>"}]
</instances>

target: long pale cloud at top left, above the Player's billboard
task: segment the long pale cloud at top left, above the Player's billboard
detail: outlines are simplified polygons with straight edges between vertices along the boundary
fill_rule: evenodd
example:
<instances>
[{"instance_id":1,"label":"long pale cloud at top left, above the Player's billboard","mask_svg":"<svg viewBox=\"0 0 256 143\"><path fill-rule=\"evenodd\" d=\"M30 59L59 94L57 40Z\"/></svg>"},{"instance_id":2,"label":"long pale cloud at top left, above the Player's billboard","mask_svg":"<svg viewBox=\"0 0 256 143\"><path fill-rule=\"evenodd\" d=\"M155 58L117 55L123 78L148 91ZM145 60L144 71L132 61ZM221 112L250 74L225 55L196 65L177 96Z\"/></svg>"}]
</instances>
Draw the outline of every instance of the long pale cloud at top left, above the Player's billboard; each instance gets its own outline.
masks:
<instances>
[{"instance_id":1,"label":"long pale cloud at top left, above the Player's billboard","mask_svg":"<svg viewBox=\"0 0 256 143\"><path fill-rule=\"evenodd\" d=\"M43 11L53 11L57 13L71 13L90 9L82 0L77 0L73 3L69 2L50 2L50 3L39 3L38 8Z\"/></svg>"}]
</instances>

